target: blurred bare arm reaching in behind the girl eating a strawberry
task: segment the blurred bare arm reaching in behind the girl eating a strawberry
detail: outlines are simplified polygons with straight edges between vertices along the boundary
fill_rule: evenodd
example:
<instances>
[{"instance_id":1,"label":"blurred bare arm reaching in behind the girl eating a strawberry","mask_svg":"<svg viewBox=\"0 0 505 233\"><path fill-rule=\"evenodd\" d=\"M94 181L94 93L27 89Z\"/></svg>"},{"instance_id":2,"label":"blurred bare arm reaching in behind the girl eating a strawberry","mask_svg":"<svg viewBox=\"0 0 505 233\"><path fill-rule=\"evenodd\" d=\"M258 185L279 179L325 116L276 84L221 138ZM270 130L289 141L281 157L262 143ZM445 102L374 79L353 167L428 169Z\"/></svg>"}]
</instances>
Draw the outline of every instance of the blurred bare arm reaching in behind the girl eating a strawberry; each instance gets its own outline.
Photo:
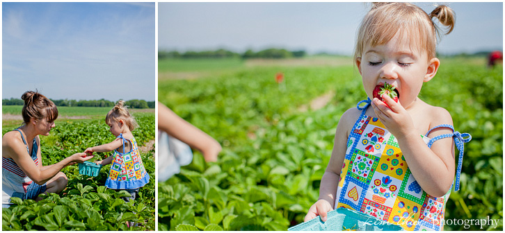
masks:
<instances>
[{"instance_id":1,"label":"blurred bare arm reaching in behind the girl eating a strawberry","mask_svg":"<svg viewBox=\"0 0 505 233\"><path fill-rule=\"evenodd\" d=\"M217 161L218 153L222 149L218 141L191 123L184 121L162 103L158 103L158 128L192 148L200 150L205 161Z\"/></svg>"}]
</instances>

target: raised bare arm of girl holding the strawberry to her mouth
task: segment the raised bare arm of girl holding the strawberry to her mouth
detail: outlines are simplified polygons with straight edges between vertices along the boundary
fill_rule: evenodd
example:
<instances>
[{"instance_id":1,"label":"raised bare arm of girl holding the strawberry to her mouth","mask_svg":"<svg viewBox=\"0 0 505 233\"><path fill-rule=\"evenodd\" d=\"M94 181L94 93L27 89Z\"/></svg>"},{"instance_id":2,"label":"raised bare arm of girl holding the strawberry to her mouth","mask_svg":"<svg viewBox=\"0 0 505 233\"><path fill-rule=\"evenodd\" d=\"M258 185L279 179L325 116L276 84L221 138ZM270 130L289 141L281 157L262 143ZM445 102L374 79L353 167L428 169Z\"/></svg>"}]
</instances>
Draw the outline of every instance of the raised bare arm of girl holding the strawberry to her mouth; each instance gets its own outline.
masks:
<instances>
[{"instance_id":1,"label":"raised bare arm of girl holding the strawberry to her mouth","mask_svg":"<svg viewBox=\"0 0 505 233\"><path fill-rule=\"evenodd\" d=\"M415 180L429 195L444 196L454 180L454 141L451 137L440 139L428 148L424 140L419 137L419 131L415 128L410 114L389 96L383 96L383 98L391 109L376 98L372 101L372 107L380 121L398 140ZM441 107L433 107L431 110L430 119L427 119L430 121L429 127L440 124L452 125L452 118L447 110ZM440 128L431 132L428 137L433 138L448 133L452 133L452 130Z\"/></svg>"}]
</instances>

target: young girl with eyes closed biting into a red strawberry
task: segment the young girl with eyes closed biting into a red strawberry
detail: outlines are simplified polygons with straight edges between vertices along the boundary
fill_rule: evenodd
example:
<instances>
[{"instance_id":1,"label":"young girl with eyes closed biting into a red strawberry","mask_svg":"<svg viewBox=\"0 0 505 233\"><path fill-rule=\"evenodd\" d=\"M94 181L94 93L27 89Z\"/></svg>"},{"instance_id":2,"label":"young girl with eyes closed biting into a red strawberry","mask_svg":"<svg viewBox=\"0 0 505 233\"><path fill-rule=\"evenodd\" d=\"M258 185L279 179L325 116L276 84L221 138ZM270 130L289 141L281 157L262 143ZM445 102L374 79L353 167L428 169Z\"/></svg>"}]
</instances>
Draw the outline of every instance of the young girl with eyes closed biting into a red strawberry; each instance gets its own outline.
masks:
<instances>
[{"instance_id":1,"label":"young girl with eyes closed biting into a red strawberry","mask_svg":"<svg viewBox=\"0 0 505 233\"><path fill-rule=\"evenodd\" d=\"M433 17L448 33L454 28L447 6L427 15L410 3L374 3L364 17L355 62L369 98L342 115L319 200L305 221L326 221L327 212L344 207L405 230L442 230L456 170L452 138L460 151L457 191L463 142L471 137L454 132L447 110L418 97L440 66Z\"/></svg>"}]
</instances>

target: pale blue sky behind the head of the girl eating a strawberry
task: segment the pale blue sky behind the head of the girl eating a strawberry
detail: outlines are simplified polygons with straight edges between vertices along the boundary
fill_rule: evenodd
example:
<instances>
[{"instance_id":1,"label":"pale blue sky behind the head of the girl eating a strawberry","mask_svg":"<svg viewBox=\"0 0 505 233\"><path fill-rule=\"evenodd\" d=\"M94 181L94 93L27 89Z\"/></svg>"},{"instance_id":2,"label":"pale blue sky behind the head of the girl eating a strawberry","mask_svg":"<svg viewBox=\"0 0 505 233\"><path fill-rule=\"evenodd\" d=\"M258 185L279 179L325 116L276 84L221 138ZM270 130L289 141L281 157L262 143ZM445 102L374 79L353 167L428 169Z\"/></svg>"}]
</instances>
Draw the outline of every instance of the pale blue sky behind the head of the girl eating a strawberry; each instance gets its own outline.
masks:
<instances>
[{"instance_id":1,"label":"pale blue sky behind the head of the girl eating a strawberry","mask_svg":"<svg viewBox=\"0 0 505 233\"><path fill-rule=\"evenodd\" d=\"M415 3L431 12L433 3ZM456 28L440 53L503 48L503 3L447 3ZM243 52L271 47L351 55L364 3L159 3L161 50Z\"/></svg>"}]
</instances>

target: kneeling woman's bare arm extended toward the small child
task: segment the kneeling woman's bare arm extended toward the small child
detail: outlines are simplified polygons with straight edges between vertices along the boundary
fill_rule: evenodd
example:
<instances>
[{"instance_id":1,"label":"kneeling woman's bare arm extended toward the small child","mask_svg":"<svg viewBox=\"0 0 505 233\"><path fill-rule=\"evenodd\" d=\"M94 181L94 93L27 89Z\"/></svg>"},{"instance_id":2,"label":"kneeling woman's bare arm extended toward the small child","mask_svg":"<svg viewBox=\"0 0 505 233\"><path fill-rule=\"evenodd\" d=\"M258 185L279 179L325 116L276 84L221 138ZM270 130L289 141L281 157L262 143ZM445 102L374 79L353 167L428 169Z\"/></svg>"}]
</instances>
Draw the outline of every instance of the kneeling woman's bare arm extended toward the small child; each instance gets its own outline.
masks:
<instances>
[{"instance_id":1,"label":"kneeling woman's bare arm extended toward the small child","mask_svg":"<svg viewBox=\"0 0 505 233\"><path fill-rule=\"evenodd\" d=\"M67 166L67 164L71 162L84 162L93 157L86 157L85 153L76 153L50 166L35 166L35 162L33 162L33 159L31 159L30 155L26 152L26 146L24 146L21 139L6 136L2 139L2 153L9 155L33 182L40 185L51 180L51 178ZM38 152L38 158L40 159L40 152Z\"/></svg>"}]
</instances>

